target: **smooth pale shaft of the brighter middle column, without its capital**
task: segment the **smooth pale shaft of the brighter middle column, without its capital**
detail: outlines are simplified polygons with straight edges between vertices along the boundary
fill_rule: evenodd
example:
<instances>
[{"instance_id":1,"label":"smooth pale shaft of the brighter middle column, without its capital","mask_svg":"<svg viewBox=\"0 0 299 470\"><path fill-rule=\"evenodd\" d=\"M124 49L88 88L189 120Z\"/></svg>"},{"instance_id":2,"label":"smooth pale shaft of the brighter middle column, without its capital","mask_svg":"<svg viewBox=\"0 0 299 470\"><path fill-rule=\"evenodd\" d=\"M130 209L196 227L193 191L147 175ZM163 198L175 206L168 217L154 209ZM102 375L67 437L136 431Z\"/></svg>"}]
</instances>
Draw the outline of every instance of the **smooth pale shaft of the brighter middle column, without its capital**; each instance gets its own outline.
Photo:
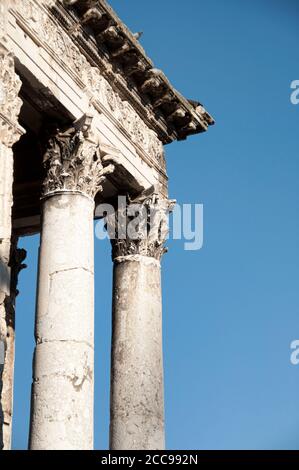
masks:
<instances>
[{"instance_id":1,"label":"smooth pale shaft of the brighter middle column, without its capital","mask_svg":"<svg viewBox=\"0 0 299 470\"><path fill-rule=\"evenodd\" d=\"M93 448L94 202L43 202L30 449Z\"/></svg>"}]
</instances>

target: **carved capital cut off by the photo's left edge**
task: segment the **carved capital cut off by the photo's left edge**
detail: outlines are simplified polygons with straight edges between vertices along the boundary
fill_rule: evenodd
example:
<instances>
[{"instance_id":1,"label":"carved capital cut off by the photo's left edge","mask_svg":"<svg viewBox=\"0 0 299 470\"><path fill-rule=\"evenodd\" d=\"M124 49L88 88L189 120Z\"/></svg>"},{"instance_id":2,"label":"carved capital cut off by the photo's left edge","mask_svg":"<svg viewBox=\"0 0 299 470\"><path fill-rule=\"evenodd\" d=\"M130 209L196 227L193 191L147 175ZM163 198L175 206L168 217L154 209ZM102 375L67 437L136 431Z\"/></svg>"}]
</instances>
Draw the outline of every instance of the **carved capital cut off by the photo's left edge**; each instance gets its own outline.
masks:
<instances>
[{"instance_id":1,"label":"carved capital cut off by the photo's left edge","mask_svg":"<svg viewBox=\"0 0 299 470\"><path fill-rule=\"evenodd\" d=\"M7 147L24 133L18 124L22 100L18 97L21 80L15 73L13 55L0 45L0 142Z\"/></svg>"}]
</instances>

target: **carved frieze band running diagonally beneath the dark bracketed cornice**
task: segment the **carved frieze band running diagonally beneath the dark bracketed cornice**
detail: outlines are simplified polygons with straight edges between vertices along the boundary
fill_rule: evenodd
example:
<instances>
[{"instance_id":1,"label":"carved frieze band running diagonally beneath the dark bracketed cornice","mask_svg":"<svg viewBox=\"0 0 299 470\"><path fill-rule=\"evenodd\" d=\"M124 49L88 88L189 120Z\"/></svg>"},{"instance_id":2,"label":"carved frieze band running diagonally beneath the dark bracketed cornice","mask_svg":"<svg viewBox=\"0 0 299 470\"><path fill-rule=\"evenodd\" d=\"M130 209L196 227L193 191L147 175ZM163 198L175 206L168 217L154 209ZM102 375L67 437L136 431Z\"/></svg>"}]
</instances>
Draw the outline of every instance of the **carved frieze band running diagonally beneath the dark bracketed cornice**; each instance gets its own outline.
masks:
<instances>
[{"instance_id":1,"label":"carved frieze band running diagonally beneath the dark bracketed cornice","mask_svg":"<svg viewBox=\"0 0 299 470\"><path fill-rule=\"evenodd\" d=\"M118 124L129 134L132 141L144 150L164 169L164 148L157 134L148 128L130 103L123 100L103 77L97 67L90 65L70 36L50 17L42 5L33 0L18 4L15 14L38 37L40 44L55 56L55 60L68 68L76 83L91 98L96 108L105 107Z\"/></svg>"}]
</instances>

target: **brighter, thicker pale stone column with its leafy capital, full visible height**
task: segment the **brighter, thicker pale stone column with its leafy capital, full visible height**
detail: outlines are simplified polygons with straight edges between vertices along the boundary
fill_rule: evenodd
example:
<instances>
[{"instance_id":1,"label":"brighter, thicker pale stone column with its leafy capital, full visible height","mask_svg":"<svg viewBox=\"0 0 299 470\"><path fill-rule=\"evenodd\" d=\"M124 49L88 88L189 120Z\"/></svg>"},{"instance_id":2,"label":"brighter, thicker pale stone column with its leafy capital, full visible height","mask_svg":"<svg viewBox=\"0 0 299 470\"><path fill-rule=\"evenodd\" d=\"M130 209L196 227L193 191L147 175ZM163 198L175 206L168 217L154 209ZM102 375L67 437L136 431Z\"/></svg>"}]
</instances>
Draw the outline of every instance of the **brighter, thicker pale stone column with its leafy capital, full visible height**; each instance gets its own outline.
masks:
<instances>
[{"instance_id":1,"label":"brighter, thicker pale stone column with its leafy capital, full visible height","mask_svg":"<svg viewBox=\"0 0 299 470\"><path fill-rule=\"evenodd\" d=\"M48 140L30 449L93 448L94 196L114 170L84 117Z\"/></svg>"}]
</instances>

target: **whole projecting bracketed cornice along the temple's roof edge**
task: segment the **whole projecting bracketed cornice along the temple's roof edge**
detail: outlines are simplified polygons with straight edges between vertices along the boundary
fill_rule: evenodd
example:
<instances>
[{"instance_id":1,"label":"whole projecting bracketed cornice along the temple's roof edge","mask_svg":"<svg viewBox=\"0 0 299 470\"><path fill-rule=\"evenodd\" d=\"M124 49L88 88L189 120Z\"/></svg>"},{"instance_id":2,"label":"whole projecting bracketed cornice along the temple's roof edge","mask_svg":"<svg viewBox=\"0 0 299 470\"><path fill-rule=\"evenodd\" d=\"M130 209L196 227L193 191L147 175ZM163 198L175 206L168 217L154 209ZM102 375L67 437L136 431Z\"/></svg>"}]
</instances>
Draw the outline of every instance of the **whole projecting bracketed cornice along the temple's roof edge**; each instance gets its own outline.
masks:
<instances>
[{"instance_id":1,"label":"whole projecting bracketed cornice along the temple's roof edge","mask_svg":"<svg viewBox=\"0 0 299 470\"><path fill-rule=\"evenodd\" d=\"M52 2L51 11L164 144L204 132L214 124L199 102L185 99L154 67L105 0L60 0Z\"/></svg>"}]
</instances>

